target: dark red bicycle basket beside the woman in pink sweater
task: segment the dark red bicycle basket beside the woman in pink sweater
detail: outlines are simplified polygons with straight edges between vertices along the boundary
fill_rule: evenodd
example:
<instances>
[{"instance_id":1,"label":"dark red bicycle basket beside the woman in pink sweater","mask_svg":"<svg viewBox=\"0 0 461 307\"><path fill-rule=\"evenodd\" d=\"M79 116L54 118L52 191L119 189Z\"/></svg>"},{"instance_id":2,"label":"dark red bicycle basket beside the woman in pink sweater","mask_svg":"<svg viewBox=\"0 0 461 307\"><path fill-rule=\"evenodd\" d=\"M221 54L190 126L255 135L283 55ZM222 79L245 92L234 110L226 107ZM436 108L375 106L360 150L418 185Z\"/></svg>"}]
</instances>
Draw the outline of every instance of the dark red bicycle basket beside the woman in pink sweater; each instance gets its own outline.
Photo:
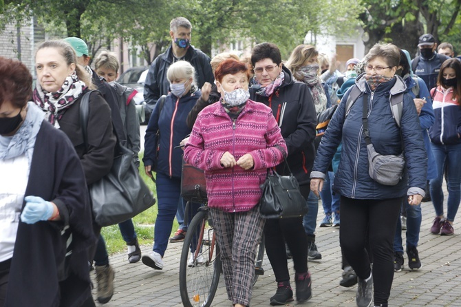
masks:
<instances>
[{"instance_id":1,"label":"dark red bicycle basket beside the woman in pink sweater","mask_svg":"<svg viewBox=\"0 0 461 307\"><path fill-rule=\"evenodd\" d=\"M204 204L206 198L205 173L182 159L181 196L189 202Z\"/></svg>"}]
</instances>

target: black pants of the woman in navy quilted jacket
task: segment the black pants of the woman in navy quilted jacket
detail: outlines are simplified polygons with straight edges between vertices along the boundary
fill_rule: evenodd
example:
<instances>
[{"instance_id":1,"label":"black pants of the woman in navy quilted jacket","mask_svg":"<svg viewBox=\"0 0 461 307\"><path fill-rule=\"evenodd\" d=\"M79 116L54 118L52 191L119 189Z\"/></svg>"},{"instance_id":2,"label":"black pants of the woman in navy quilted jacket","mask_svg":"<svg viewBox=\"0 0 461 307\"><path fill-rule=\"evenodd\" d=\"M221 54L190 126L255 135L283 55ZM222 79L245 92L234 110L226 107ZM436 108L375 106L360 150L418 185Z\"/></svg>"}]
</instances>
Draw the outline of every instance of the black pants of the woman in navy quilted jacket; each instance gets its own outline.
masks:
<instances>
[{"instance_id":1,"label":"black pants of the woman in navy quilted jacket","mask_svg":"<svg viewBox=\"0 0 461 307\"><path fill-rule=\"evenodd\" d=\"M394 235L402 198L353 200L341 196L339 242L357 276L371 273L367 235L373 255L374 304L386 304L394 278Z\"/></svg>"}]
</instances>

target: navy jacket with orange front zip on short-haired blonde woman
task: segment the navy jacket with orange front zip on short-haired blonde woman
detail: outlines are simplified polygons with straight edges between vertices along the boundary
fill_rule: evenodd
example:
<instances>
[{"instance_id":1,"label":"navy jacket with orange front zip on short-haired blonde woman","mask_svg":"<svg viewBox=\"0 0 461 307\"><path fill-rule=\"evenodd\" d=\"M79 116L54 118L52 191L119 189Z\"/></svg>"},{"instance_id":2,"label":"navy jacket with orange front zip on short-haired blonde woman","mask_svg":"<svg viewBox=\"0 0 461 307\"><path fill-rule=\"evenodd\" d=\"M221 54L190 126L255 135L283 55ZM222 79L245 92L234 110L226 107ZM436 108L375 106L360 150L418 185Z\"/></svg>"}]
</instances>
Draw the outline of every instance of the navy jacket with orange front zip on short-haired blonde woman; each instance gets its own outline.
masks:
<instances>
[{"instance_id":1,"label":"navy jacket with orange front zip on short-haired blonde woman","mask_svg":"<svg viewBox=\"0 0 461 307\"><path fill-rule=\"evenodd\" d=\"M181 148L174 148L191 134L191 128L186 124L186 118L202 95L200 90L189 92L181 98L169 94L160 112L160 103L156 103L146 135L144 136L144 166L151 165L152 170L167 176L181 178L182 154ZM157 157L157 130L160 129L160 147Z\"/></svg>"}]
</instances>

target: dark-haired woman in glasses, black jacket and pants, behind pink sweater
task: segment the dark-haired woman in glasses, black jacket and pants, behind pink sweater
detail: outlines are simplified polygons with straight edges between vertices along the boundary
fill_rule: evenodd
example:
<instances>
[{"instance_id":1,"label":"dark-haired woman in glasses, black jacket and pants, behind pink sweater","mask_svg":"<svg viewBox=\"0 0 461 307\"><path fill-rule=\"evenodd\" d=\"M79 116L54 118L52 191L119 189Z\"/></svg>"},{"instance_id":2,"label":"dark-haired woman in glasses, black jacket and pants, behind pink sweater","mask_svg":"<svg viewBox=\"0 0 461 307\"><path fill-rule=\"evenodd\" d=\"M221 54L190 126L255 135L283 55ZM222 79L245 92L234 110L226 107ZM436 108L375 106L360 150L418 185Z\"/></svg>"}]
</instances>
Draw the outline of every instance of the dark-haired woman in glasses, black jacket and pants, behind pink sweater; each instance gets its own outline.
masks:
<instances>
[{"instance_id":1,"label":"dark-haired woman in glasses, black jacket and pants, behind pink sweater","mask_svg":"<svg viewBox=\"0 0 461 307\"><path fill-rule=\"evenodd\" d=\"M314 138L317 125L309 87L305 83L294 81L290 70L281 63L279 48L272 43L256 45L251 54L251 63L257 85L250 89L250 99L264 103L272 109L288 147L288 165L307 200L310 193L309 174L315 157ZM281 164L277 171L286 174L288 169ZM317 218L318 200L315 196L309 211L308 215L313 214ZM303 218L267 220L264 235L266 253L277 282L277 292L270 298L270 304L285 305L293 300L285 242L293 257L296 299L299 302L310 299L312 294L308 272L308 236L303 228ZM313 243L313 238L311 242Z\"/></svg>"}]
</instances>

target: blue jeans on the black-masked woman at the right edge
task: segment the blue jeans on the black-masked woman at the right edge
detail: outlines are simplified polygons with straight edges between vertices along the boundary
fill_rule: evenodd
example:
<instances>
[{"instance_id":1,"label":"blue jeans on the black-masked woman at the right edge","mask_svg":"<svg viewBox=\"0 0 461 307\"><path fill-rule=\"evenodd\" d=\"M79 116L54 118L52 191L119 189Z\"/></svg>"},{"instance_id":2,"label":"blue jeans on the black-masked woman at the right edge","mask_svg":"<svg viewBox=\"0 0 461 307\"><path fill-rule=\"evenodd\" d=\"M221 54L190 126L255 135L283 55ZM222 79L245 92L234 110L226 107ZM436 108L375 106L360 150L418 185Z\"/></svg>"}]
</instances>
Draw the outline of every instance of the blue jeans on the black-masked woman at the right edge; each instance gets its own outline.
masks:
<instances>
[{"instance_id":1,"label":"blue jeans on the black-masked woman at the right edge","mask_svg":"<svg viewBox=\"0 0 461 307\"><path fill-rule=\"evenodd\" d=\"M461 200L461 144L437 145L431 143L433 156L437 164L437 177L430 180L430 191L436 215L443 215L442 181L447 168L447 220L453 222Z\"/></svg>"}]
</instances>

